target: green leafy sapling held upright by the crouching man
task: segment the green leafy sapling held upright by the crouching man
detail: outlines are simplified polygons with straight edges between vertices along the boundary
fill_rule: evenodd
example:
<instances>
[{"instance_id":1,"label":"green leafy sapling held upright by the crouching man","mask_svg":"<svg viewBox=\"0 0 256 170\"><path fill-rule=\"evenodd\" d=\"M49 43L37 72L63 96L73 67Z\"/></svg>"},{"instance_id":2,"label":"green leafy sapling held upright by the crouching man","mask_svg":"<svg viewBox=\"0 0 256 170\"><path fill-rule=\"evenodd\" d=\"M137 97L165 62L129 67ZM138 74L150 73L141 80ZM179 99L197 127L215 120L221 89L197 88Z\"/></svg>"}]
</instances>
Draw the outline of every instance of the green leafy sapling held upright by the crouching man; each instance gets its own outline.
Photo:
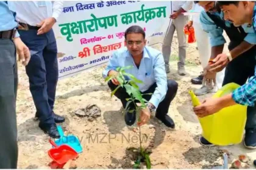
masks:
<instances>
[{"instance_id":1,"label":"green leafy sapling held upright by the crouching man","mask_svg":"<svg viewBox=\"0 0 256 170\"><path fill-rule=\"evenodd\" d=\"M124 89L126 89L126 92L127 94L129 94L130 98L126 98L127 104L126 104L126 108L124 108L124 112L132 113L136 111L137 113L139 113L141 109L146 108L146 103L148 103L148 101L143 98L143 95L150 95L150 94L141 94L140 89L136 83L143 83L143 81L138 80L130 73L126 73L125 70L131 69L132 67L133 66L118 67L116 69L118 74L115 76L105 78L105 81L108 82L113 78L115 78L119 82L119 85L116 87L116 89L112 91L111 97L115 94L116 90L118 90L120 87L123 87ZM137 105L137 103L139 103L139 106ZM129 107L130 104L133 104L135 108L130 109ZM138 121L140 121L140 118ZM145 162L147 169L151 169L151 160L149 158L149 152L146 151L146 149L144 149L141 146L140 127L139 127L139 137L140 137L140 151L139 151L140 154L138 155L138 158L135 161L135 165L133 166L133 168L139 169L141 162Z\"/></svg>"}]
</instances>

